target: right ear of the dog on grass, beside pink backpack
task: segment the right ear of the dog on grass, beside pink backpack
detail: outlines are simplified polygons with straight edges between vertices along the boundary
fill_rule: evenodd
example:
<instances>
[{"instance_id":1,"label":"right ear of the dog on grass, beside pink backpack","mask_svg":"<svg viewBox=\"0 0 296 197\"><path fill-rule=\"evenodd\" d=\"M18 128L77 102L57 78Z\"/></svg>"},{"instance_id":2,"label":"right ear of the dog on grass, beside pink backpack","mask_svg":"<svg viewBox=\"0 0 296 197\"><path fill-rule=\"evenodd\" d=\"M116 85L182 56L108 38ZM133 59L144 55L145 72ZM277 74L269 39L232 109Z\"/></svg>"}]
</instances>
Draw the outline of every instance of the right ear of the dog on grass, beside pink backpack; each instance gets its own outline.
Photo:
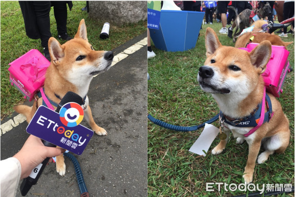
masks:
<instances>
[{"instance_id":1,"label":"right ear of the dog on grass, beside pink backpack","mask_svg":"<svg viewBox=\"0 0 296 197\"><path fill-rule=\"evenodd\" d=\"M271 55L271 43L268 40L261 42L250 52L251 63L259 69L259 73L262 74Z\"/></svg>"}]
</instances>

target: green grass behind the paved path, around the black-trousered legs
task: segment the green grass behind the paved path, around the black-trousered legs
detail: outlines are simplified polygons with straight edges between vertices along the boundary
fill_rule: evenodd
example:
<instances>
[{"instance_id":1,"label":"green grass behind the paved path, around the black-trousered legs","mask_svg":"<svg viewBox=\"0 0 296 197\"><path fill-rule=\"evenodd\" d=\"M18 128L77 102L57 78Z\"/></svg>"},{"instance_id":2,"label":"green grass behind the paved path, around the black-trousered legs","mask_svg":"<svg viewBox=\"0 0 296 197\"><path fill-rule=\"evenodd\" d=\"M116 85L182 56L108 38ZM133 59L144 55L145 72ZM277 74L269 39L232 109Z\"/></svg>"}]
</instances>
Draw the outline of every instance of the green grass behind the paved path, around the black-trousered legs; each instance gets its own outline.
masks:
<instances>
[{"instance_id":1,"label":"green grass behind the paved path, around the black-trousered legs","mask_svg":"<svg viewBox=\"0 0 296 197\"><path fill-rule=\"evenodd\" d=\"M23 103L22 94L9 83L8 64L31 49L38 49L43 53L40 39L30 39L25 32L23 15L18 1L1 1L1 119L13 112L13 106ZM74 36L81 19L85 19L88 40L95 50L112 50L133 37L147 30L147 21L136 24L115 26L111 23L110 38L102 40L99 35L106 21L91 19L86 11L85 1L73 1L72 11L68 8L68 34ZM57 38L56 22L53 7L50 11L50 27L52 36ZM60 41L61 44L65 41Z\"/></svg>"}]
</instances>

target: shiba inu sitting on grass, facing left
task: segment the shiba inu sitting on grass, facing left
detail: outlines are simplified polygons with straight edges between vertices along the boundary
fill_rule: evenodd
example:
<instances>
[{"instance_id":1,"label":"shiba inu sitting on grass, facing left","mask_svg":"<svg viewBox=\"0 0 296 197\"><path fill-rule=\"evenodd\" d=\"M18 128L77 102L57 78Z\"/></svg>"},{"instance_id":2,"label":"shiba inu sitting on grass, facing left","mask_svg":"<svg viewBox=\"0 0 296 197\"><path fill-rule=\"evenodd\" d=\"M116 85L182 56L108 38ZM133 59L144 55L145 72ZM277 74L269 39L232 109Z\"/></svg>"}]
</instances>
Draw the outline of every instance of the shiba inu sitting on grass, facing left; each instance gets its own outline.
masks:
<instances>
[{"instance_id":1,"label":"shiba inu sitting on grass, facing left","mask_svg":"<svg viewBox=\"0 0 296 197\"><path fill-rule=\"evenodd\" d=\"M270 59L271 44L269 41L261 42L250 53L234 47L222 46L217 34L211 28L206 31L205 66L198 72L198 82L202 90L211 93L216 99L221 114L231 122L244 122L245 117L255 111L261 111L258 106L262 103L265 110L271 106L262 99L264 96L264 83L261 74L266 69ZM264 122L258 130L250 131L254 127L238 127L224 124L225 139L212 150L212 154L220 154L224 150L230 131L236 143L247 141L249 155L243 173L246 184L253 181L254 167L259 154L260 145L265 151L258 156L258 163L265 162L269 155L283 153L290 140L289 120L283 113L281 104L271 94L267 93L272 104L272 117ZM266 96L267 97L267 96ZM262 107L263 108L263 107ZM261 113L262 114L262 113ZM262 117L260 117L262 118ZM234 120L234 121L233 121Z\"/></svg>"}]
</instances>

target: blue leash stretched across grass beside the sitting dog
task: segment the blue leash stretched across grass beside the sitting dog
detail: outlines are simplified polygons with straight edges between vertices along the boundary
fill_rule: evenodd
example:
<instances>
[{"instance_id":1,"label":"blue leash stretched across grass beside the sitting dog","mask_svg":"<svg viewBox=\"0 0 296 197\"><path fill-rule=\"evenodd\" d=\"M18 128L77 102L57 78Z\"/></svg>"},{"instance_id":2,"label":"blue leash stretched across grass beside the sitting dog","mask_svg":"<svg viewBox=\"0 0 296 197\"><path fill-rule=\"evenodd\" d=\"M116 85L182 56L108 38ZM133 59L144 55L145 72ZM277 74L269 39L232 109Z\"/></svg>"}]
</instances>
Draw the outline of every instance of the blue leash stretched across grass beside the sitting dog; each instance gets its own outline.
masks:
<instances>
[{"instance_id":1,"label":"blue leash stretched across grass beside the sitting dog","mask_svg":"<svg viewBox=\"0 0 296 197\"><path fill-rule=\"evenodd\" d=\"M206 123L211 124L211 123L215 122L216 120L219 119L219 114L217 114L215 117L211 118L210 120L208 120L207 122L205 122L201 125L196 125L196 126L192 126L192 127L182 127L182 126L171 125L171 124L165 123L161 120L154 118L150 114L148 114L148 119L152 123L154 123L155 125L158 125L160 127L163 127L163 128L169 129L169 130L188 132L188 131L196 131L196 130L204 127L206 125Z\"/></svg>"}]
</instances>

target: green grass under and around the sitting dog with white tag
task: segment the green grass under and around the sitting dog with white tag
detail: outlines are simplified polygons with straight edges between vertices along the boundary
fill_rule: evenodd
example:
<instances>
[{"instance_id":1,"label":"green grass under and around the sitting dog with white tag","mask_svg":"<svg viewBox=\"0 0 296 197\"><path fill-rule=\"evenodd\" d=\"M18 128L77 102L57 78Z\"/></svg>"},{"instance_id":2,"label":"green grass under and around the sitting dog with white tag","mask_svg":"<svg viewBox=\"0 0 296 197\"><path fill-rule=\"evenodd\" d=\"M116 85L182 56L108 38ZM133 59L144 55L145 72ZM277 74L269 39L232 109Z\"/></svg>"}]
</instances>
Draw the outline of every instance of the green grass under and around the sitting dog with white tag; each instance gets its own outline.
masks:
<instances>
[{"instance_id":1,"label":"green grass under and around the sitting dog with white tag","mask_svg":"<svg viewBox=\"0 0 296 197\"><path fill-rule=\"evenodd\" d=\"M204 93L196 80L198 68L206 59L205 30L219 32L222 24L203 25L195 48L185 52L165 52L152 43L156 57L148 60L148 113L174 125L199 125L219 112L216 101ZM290 28L288 28L290 29ZM226 34L218 33L222 45L234 46ZM289 34L284 41L294 41ZM289 61L294 68L294 43L288 46ZM256 164L253 183L294 185L294 71L288 74L279 101L290 120L291 140L284 154L271 155L264 164ZM217 121L214 123L218 127ZM202 130L170 131L148 121L148 196L192 197L232 196L243 192L206 192L206 183L243 183L247 162L247 143L238 145L232 135L220 155L211 155L218 143L212 143L206 157L188 152ZM262 152L262 150L260 150ZM252 193L252 192L250 192ZM294 196L294 195L281 195Z\"/></svg>"}]
</instances>

